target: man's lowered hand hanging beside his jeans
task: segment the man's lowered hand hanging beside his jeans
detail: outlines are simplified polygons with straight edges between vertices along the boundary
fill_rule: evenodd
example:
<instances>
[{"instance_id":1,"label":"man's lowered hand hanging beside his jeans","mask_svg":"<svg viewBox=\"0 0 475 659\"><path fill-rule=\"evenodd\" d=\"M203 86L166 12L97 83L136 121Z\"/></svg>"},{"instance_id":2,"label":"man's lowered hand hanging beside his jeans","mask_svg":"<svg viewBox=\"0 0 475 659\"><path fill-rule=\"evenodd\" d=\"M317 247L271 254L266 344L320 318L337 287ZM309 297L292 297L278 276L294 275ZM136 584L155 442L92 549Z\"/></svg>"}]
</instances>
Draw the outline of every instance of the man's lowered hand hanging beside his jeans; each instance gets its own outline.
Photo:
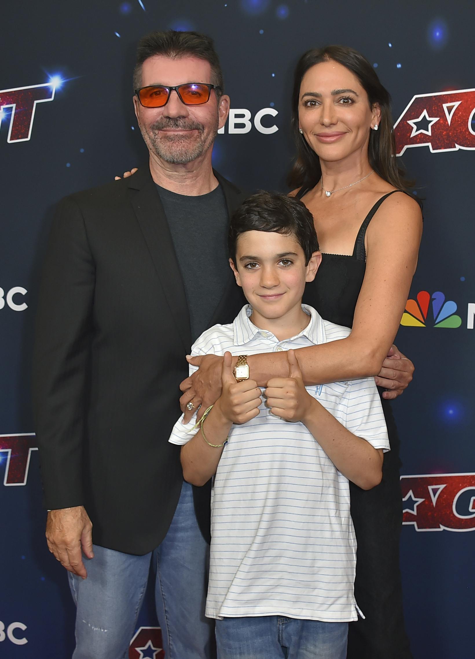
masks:
<instances>
[{"instance_id":1,"label":"man's lowered hand hanging beside his jeans","mask_svg":"<svg viewBox=\"0 0 475 659\"><path fill-rule=\"evenodd\" d=\"M92 523L82 505L49 511L46 541L51 554L67 571L86 579L88 573L82 562L81 548L87 558L94 558L94 552Z\"/></svg>"}]
</instances>

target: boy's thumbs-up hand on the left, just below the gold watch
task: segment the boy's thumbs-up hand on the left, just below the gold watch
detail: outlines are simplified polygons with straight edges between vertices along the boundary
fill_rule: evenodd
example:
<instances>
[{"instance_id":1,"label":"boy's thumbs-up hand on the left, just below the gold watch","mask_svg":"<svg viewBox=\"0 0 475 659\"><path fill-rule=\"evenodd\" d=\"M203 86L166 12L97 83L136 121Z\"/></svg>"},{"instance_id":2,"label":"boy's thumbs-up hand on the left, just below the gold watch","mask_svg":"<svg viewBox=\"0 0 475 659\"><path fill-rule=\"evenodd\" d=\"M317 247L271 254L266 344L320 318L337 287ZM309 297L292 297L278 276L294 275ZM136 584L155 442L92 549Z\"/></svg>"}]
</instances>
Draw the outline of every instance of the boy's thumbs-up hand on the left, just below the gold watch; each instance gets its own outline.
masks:
<instances>
[{"instance_id":1,"label":"boy's thumbs-up hand on the left, just below the gold watch","mask_svg":"<svg viewBox=\"0 0 475 659\"><path fill-rule=\"evenodd\" d=\"M223 393L217 399L215 407L219 408L224 418L241 424L259 415L261 390L255 380L236 381L231 353L224 353L221 381Z\"/></svg>"}]
</instances>

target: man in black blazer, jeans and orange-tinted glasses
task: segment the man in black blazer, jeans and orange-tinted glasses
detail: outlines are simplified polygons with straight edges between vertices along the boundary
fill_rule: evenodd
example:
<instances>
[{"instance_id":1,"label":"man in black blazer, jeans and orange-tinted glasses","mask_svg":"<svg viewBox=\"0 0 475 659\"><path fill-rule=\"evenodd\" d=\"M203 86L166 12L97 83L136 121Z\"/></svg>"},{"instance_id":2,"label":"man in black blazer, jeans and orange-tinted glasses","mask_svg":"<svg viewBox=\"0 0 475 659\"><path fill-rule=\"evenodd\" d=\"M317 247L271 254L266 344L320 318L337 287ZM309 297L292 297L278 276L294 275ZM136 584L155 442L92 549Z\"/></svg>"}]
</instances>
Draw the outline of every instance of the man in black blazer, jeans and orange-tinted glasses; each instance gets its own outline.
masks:
<instances>
[{"instance_id":1,"label":"man in black blazer, jeans and orange-tinted glasses","mask_svg":"<svg viewBox=\"0 0 475 659\"><path fill-rule=\"evenodd\" d=\"M142 38L134 90L149 166L65 198L45 258L34 407L46 536L77 605L74 659L128 656L150 565L167 659L208 658L209 497L183 482L167 440L192 342L242 306L225 245L245 195L211 166L229 97L210 38Z\"/></svg>"}]
</instances>

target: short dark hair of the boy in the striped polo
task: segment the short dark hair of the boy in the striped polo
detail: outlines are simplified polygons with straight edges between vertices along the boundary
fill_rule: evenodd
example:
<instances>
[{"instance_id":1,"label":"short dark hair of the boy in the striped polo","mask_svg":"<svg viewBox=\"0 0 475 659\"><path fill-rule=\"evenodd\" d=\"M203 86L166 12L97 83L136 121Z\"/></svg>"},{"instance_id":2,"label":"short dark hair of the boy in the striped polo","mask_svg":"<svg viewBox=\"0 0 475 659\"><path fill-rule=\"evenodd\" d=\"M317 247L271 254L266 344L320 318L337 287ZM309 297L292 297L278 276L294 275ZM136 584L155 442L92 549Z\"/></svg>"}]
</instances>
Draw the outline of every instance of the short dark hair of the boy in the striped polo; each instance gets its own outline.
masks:
<instances>
[{"instance_id":1,"label":"short dark hair of the boy in the striped polo","mask_svg":"<svg viewBox=\"0 0 475 659\"><path fill-rule=\"evenodd\" d=\"M304 204L278 192L256 192L242 202L231 217L228 234L229 256L236 264L236 245L241 233L267 231L293 235L305 254L305 264L318 250L314 218Z\"/></svg>"}]
</instances>

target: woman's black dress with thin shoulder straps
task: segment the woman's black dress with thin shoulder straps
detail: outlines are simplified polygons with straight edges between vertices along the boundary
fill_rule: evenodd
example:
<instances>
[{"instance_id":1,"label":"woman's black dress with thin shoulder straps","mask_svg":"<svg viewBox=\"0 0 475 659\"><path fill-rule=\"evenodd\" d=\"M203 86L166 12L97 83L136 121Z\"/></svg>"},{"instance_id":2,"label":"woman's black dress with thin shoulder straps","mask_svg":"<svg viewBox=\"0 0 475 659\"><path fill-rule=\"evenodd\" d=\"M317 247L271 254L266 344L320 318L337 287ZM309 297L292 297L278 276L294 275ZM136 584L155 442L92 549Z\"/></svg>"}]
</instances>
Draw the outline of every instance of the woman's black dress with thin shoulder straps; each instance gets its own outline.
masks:
<instances>
[{"instance_id":1,"label":"woman's black dress with thin shoulder straps","mask_svg":"<svg viewBox=\"0 0 475 659\"><path fill-rule=\"evenodd\" d=\"M298 194L298 198L305 193ZM393 194L393 192L389 192ZM358 233L353 254L323 254L303 301L322 318L351 327L366 269L364 235L373 215L389 196L370 210ZM381 390L382 391L382 390ZM356 602L366 619L350 623L348 659L410 659L403 619L399 536L403 518L399 484L399 438L389 401L381 398L391 451L385 453L383 479L372 490L350 483L351 516L358 542Z\"/></svg>"}]
</instances>

